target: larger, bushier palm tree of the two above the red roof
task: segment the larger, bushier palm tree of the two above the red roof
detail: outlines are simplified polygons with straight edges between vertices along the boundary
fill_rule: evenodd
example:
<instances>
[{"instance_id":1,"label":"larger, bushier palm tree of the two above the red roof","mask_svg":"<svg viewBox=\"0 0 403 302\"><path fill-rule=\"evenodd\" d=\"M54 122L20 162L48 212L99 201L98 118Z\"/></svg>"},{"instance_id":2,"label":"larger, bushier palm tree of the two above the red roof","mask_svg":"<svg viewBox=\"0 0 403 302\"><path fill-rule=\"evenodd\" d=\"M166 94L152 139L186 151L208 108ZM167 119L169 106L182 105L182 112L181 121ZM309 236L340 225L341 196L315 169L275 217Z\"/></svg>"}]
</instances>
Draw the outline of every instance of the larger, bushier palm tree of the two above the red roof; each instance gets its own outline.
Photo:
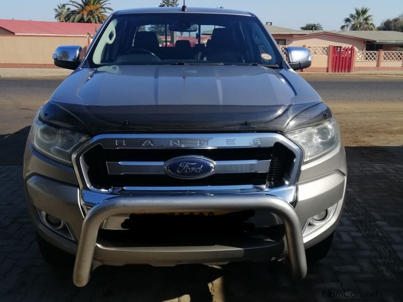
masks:
<instances>
[{"instance_id":1,"label":"larger, bushier palm tree of the two above the red roof","mask_svg":"<svg viewBox=\"0 0 403 302\"><path fill-rule=\"evenodd\" d=\"M113 10L107 7L109 0L81 0L70 1L70 6L74 7L70 15L69 22L75 23L103 23L107 18L107 13Z\"/></svg>"}]
</instances>

